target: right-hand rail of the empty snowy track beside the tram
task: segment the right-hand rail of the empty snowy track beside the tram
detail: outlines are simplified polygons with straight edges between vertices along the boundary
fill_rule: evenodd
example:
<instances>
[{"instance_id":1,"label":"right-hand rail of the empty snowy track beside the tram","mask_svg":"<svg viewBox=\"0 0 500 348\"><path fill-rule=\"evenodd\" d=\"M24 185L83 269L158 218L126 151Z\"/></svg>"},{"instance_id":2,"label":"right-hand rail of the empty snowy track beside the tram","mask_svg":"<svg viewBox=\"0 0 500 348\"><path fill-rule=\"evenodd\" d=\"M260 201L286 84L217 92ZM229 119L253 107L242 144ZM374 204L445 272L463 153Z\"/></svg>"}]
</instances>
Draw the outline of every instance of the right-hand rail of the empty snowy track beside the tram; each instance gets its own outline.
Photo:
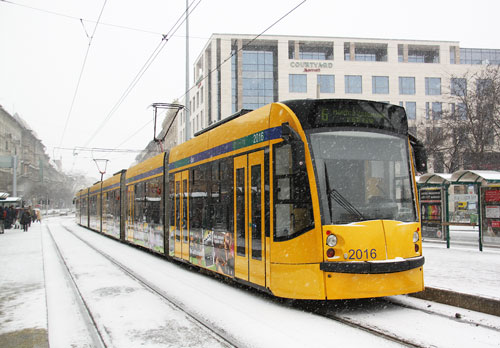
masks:
<instances>
[{"instance_id":1,"label":"right-hand rail of the empty snowy track beside the tram","mask_svg":"<svg viewBox=\"0 0 500 348\"><path fill-rule=\"evenodd\" d=\"M115 267L120 269L128 277L130 277L131 279L136 281L142 287L144 287L145 289L147 289L151 293L155 294L156 296L161 298L163 301L165 301L169 305L171 305L173 308L175 308L176 310L182 312L184 315L189 317L194 323L196 323L203 330L205 330L205 332L214 336L214 338L217 341L219 341L219 343L221 343L222 346L224 346L224 347L242 347L242 348L246 347L246 345L243 342L239 341L236 337L232 336L230 333L226 332L224 329L222 329L222 328L218 327L217 325L215 325L214 323L206 320L204 317L198 315L197 313L190 311L189 308L187 308L182 302L178 301L177 299L175 299L172 296L169 296L169 294L166 293L164 290L155 286L150 281L148 281L144 277L140 276L139 274L137 274L136 272L134 272L129 267L125 266L123 263L119 262L115 258L113 258L111 255L105 253L104 251L100 250L99 248L96 248L91 243L89 243L85 239L78 236L73 230L71 230L67 226L62 226L62 227L66 231L68 231L72 236L74 236L76 239L78 239L80 242L85 244L88 248L90 248L91 250L93 250L96 253L98 253L99 255L101 255L107 261L111 262ZM69 271L69 269L68 269L68 271Z\"/></svg>"}]
</instances>

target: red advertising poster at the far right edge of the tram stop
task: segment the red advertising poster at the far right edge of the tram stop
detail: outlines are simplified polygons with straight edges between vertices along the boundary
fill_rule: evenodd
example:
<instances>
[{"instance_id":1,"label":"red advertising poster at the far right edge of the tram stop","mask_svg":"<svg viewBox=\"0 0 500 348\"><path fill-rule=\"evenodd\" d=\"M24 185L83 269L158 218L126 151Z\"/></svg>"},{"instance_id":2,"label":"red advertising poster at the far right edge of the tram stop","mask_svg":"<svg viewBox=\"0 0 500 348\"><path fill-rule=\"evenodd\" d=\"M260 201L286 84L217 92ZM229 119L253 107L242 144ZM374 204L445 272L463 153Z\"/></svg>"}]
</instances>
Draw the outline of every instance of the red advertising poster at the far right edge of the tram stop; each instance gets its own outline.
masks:
<instances>
[{"instance_id":1,"label":"red advertising poster at the far right edge of the tram stop","mask_svg":"<svg viewBox=\"0 0 500 348\"><path fill-rule=\"evenodd\" d=\"M500 187L482 189L482 231L483 241L500 244Z\"/></svg>"}]
</instances>

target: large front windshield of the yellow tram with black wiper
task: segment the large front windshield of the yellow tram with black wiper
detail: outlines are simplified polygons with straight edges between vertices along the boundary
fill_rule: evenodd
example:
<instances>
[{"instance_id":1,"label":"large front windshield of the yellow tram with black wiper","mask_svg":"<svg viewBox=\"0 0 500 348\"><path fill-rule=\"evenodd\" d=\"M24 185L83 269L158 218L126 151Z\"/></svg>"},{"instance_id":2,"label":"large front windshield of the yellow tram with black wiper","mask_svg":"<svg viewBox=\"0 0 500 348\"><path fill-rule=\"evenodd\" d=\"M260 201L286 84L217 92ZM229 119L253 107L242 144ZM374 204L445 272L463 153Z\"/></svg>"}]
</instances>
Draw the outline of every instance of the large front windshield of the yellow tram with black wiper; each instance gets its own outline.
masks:
<instances>
[{"instance_id":1,"label":"large front windshield of the yellow tram with black wiper","mask_svg":"<svg viewBox=\"0 0 500 348\"><path fill-rule=\"evenodd\" d=\"M323 221L416 221L405 137L366 131L310 133Z\"/></svg>"}]
</instances>

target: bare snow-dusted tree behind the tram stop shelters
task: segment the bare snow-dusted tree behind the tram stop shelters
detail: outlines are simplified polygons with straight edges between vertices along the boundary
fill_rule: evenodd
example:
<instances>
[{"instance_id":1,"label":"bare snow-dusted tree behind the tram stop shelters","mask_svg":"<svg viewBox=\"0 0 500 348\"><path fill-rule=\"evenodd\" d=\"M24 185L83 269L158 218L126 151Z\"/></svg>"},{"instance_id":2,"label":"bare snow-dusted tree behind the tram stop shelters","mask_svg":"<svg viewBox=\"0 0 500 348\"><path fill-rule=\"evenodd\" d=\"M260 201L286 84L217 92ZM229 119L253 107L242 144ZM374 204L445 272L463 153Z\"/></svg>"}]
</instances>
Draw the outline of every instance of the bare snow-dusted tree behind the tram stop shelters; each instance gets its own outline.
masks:
<instances>
[{"instance_id":1,"label":"bare snow-dusted tree behind the tram stop shelters","mask_svg":"<svg viewBox=\"0 0 500 348\"><path fill-rule=\"evenodd\" d=\"M435 171L500 170L500 66L451 76L448 106L426 128Z\"/></svg>"}]
</instances>

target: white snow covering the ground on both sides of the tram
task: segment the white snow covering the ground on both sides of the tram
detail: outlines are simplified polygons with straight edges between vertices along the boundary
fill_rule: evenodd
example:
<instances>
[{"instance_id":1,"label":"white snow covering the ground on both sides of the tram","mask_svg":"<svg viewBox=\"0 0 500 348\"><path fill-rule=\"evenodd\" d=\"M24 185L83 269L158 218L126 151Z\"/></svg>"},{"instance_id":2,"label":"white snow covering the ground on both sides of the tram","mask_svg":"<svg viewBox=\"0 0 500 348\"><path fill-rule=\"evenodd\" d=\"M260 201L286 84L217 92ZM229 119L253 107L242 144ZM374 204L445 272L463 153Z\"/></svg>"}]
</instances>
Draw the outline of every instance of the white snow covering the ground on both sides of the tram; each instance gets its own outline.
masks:
<instances>
[{"instance_id":1,"label":"white snow covering the ground on both sides of the tram","mask_svg":"<svg viewBox=\"0 0 500 348\"><path fill-rule=\"evenodd\" d=\"M182 324L186 320L182 317L174 320L177 326L169 326L168 318L174 314L164 313L166 312L164 303L150 298L151 294L139 289L137 284L125 284L127 280L119 277L116 270L109 270L105 266L106 262L97 254L85 251L81 242L62 229L60 224L68 224L71 228L78 229L89 242L96 243L99 248L112 254L118 261L137 269L143 277L150 279L186 307L207 317L218 327L234 332L245 346L395 345L313 313L284 306L255 292L246 293L242 289L222 284L197 272L187 271L184 267L165 262L80 228L71 218L54 218L45 220L44 224L51 227L70 269L75 272L76 282L82 294L86 295L87 305L95 310L96 321L104 323L102 326L107 325L105 331L108 335L112 335L117 347L134 345L176 347L179 346L179 342L174 343L175 337L168 338L172 341L156 342L152 339L153 336L150 335L147 339L148 336L143 334L159 333L172 328L179 330L180 327L180 332L184 332L185 336L194 334L196 330L189 329L188 324ZM442 245L426 243L424 255L427 286L499 297L498 290L495 291L500 289L498 251L487 250L480 253L473 248L446 249ZM78 305L75 299L69 296L68 282L61 279L63 266L55 259L52 241L42 226L34 224L28 233L10 230L5 235L0 235L0 263L2 265L0 268L1 347L7 346L3 343L12 337L13 332L26 329L43 331L47 330L47 327L50 332L51 347L90 346L88 343L90 333L77 319L75 313L79 310ZM133 291L126 291L127 289ZM113 296L117 294L120 295L120 299ZM141 300L147 298L149 300L145 300L143 306L135 308L137 295L140 295ZM433 307L437 306L439 305L433 304ZM403 322L404 326L408 327L408 334L413 331L415 335L419 328L421 330L424 327L428 328L423 322L428 321L429 316L421 313L418 314L420 322L416 323L409 317L411 315L409 312L400 310L379 310L373 307L368 312L359 308L351 312L349 308L343 308L339 313L344 311L346 313L343 315L354 317L356 320L368 320L375 326L383 324L387 327L398 327ZM490 320L494 325L499 325L491 316L485 315L484 318L485 321ZM183 331L182 328L185 327L188 329ZM144 337L144 339L132 341L131 331L133 337ZM439 340L432 341L439 342L437 346L455 347L462 346L461 343L465 346L470 344L471 340L477 343L475 346L498 346L499 332L490 331L484 328L474 329L472 326L451 321L449 327L436 327L434 331L426 332L425 336L439 336ZM71 332L73 339L68 338L71 336L68 332ZM423 332L421 334L424 335ZM164 337L163 333L158 336ZM197 337L204 336L200 333ZM182 338L182 335L178 338ZM217 346L217 343L209 343L208 340L207 338L203 343ZM206 345L194 344L194 346Z\"/></svg>"}]
</instances>

